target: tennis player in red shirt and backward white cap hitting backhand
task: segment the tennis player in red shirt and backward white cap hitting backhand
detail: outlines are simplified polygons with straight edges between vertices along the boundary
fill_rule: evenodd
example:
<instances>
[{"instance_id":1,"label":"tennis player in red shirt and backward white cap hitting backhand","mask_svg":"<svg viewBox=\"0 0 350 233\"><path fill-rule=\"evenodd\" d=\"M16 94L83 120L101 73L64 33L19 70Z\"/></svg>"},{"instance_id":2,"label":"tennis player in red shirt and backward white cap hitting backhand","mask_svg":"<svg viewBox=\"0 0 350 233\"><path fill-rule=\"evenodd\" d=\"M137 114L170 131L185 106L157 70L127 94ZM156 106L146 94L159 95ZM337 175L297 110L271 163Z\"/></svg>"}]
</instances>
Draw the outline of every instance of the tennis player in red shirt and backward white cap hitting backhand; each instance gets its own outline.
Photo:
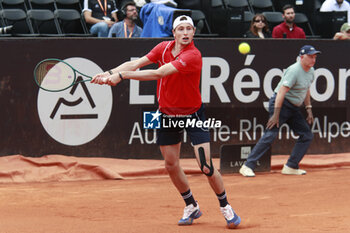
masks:
<instances>
[{"instance_id":1,"label":"tennis player in red shirt and backward white cap hitting backhand","mask_svg":"<svg viewBox=\"0 0 350 233\"><path fill-rule=\"evenodd\" d=\"M204 107L199 90L202 56L193 43L194 33L192 19L184 15L179 16L173 23L173 41L161 42L146 56L98 74L91 82L115 86L124 79L158 80L157 97L163 117L186 116L203 121ZM136 71L151 63L158 63L159 68ZM157 144L160 146L169 176L186 203L178 225L191 225L202 212L180 166L182 132L182 128L162 128L157 131ZM222 177L213 166L208 129L189 127L186 128L186 132L191 139L198 165L217 195L227 227L236 228L241 219L228 203Z\"/></svg>"}]
</instances>

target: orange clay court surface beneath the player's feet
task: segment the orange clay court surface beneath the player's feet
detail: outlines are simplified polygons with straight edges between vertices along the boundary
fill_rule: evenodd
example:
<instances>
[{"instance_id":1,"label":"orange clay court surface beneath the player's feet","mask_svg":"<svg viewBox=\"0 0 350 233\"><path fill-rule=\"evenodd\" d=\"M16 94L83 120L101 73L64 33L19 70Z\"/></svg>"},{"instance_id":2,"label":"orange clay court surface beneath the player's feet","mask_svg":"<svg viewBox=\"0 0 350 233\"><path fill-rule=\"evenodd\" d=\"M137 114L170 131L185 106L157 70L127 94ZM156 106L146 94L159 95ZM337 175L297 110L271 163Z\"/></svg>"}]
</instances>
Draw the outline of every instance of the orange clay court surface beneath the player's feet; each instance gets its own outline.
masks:
<instances>
[{"instance_id":1,"label":"orange clay court surface beneath the player's feet","mask_svg":"<svg viewBox=\"0 0 350 233\"><path fill-rule=\"evenodd\" d=\"M308 155L305 176L282 175L286 158L254 178L223 176L242 218L229 230L193 159L181 163L203 216L179 227L184 202L163 161L0 157L0 232L350 232L350 154Z\"/></svg>"}]
</instances>

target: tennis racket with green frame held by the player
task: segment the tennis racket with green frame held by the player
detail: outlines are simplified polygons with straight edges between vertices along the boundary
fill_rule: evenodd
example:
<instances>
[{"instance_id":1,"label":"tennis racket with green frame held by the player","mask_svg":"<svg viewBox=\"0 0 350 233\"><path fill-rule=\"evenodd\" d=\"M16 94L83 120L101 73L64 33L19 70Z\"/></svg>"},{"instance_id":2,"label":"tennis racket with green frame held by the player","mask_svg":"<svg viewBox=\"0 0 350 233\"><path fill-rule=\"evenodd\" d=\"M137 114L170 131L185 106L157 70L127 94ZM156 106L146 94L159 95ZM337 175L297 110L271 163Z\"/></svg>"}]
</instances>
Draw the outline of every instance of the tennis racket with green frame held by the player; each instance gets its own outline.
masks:
<instances>
[{"instance_id":1,"label":"tennis racket with green frame held by the player","mask_svg":"<svg viewBox=\"0 0 350 233\"><path fill-rule=\"evenodd\" d=\"M86 79L79 79L78 81L77 74L84 76ZM65 61L48 58L36 65L34 79L41 89L58 92L66 90L77 83L90 81L92 77L74 69Z\"/></svg>"}]
</instances>

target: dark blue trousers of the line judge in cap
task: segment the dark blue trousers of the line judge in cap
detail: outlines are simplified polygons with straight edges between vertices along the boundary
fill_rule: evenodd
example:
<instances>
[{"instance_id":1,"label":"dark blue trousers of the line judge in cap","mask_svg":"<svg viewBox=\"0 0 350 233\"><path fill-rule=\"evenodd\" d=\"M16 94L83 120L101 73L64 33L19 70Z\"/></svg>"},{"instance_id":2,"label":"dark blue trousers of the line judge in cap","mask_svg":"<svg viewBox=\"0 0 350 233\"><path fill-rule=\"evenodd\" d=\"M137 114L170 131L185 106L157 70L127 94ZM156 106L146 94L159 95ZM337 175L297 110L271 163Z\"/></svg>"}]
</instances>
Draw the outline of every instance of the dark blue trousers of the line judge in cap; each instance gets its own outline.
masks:
<instances>
[{"instance_id":1,"label":"dark blue trousers of the line judge in cap","mask_svg":"<svg viewBox=\"0 0 350 233\"><path fill-rule=\"evenodd\" d=\"M269 116L271 117L274 112L276 94L272 96L269 101ZM287 123L294 131L294 133L299 135L298 140L293 148L291 155L287 161L287 166L291 168L298 169L299 162L303 159L306 154L307 149L312 141L313 134L310 130L308 123L306 122L304 116L300 112L300 108L291 104L288 100L284 99L282 104L279 125ZM255 145L251 153L249 154L245 165L254 170L257 161L265 154L265 152L270 148L271 144L278 135L279 128L276 126L272 129L266 129L264 135L258 143Z\"/></svg>"}]
</instances>

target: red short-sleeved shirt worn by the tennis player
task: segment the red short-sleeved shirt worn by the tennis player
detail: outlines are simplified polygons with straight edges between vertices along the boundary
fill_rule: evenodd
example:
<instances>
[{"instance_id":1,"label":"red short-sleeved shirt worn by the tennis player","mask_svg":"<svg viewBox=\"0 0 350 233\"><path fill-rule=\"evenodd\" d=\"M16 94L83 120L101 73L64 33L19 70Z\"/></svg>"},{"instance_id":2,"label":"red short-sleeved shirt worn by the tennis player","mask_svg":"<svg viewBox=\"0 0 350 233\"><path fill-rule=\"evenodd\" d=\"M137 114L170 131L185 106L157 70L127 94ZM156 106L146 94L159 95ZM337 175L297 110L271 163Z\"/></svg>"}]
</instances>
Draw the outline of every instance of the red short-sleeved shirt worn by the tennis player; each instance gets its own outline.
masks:
<instances>
[{"instance_id":1,"label":"red short-sleeved shirt worn by the tennis player","mask_svg":"<svg viewBox=\"0 0 350 233\"><path fill-rule=\"evenodd\" d=\"M178 72L165 76L157 82L157 97L160 111L167 115L189 115L202 105L199 84L202 70L202 55L191 44L174 57L171 50L175 41L164 41L146 56L159 67L169 62Z\"/></svg>"}]
</instances>

